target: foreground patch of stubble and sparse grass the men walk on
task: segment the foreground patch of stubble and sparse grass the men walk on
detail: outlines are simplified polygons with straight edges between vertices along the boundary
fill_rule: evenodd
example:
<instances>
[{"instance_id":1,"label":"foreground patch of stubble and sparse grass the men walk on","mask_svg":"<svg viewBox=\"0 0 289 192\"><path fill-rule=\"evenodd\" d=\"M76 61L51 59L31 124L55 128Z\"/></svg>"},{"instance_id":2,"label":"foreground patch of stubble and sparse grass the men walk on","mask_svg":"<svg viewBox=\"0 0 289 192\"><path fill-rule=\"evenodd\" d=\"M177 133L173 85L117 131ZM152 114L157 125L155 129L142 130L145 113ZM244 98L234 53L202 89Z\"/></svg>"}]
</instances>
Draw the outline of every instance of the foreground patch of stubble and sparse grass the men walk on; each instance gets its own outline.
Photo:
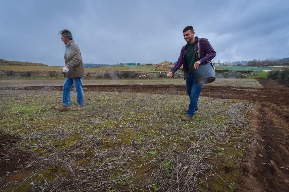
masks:
<instances>
[{"instance_id":1,"label":"foreground patch of stubble and sparse grass the men walk on","mask_svg":"<svg viewBox=\"0 0 289 192\"><path fill-rule=\"evenodd\" d=\"M244 117L252 106L241 100L200 97L194 120L182 122L187 96L87 92L80 112L53 109L58 91L0 96L0 130L19 139L10 152L31 154L11 170L25 177L0 178L10 192L234 191L252 139Z\"/></svg>"}]
</instances>

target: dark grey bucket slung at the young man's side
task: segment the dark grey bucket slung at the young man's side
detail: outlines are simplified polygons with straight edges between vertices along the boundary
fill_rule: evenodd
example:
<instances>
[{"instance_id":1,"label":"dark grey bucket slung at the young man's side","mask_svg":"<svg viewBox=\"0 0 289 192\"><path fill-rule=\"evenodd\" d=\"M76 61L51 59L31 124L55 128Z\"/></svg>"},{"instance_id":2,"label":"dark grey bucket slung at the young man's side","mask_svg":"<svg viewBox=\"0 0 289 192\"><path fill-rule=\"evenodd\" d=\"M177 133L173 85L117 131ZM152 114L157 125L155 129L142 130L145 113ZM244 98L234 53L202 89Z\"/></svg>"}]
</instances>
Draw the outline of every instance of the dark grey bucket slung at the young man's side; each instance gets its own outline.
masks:
<instances>
[{"instance_id":1,"label":"dark grey bucket slung at the young man's side","mask_svg":"<svg viewBox=\"0 0 289 192\"><path fill-rule=\"evenodd\" d=\"M212 83L216 79L215 68L211 63L199 65L198 69L192 71L199 84Z\"/></svg>"}]
</instances>

